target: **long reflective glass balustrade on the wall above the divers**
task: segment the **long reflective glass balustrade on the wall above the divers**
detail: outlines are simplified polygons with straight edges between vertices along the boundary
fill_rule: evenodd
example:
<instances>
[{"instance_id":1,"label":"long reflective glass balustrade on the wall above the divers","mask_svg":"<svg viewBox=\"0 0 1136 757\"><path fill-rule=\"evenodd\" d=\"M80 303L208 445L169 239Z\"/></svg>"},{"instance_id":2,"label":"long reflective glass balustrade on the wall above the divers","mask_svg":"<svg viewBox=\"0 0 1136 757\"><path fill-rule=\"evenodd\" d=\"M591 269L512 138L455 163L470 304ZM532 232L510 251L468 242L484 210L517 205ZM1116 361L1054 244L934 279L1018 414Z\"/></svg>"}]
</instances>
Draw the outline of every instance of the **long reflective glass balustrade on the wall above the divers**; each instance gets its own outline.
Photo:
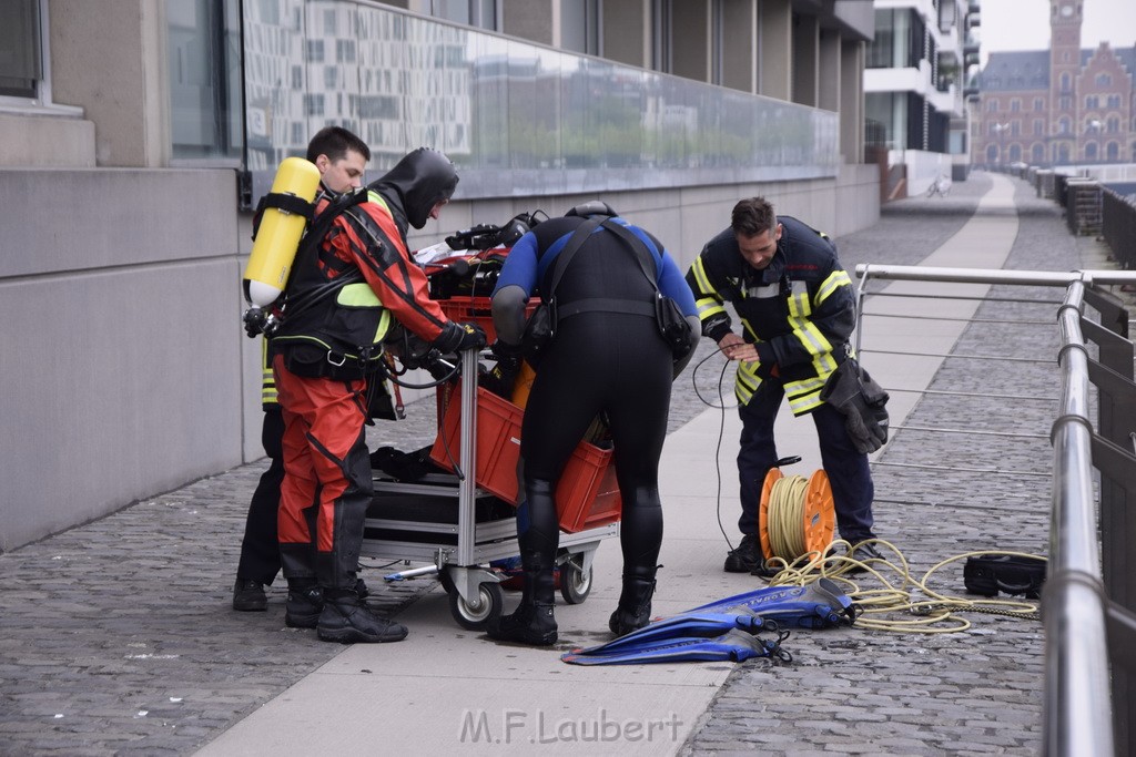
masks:
<instances>
[{"instance_id":1,"label":"long reflective glass balustrade on the wall above the divers","mask_svg":"<svg viewBox=\"0 0 1136 757\"><path fill-rule=\"evenodd\" d=\"M224 9L191 18L198 5ZM236 3L199 0L177 14L182 3L168 6L170 34L195 40L215 76L226 77ZM177 49L190 58L190 47ZM239 53L240 104L235 86L175 87L175 120L184 123L174 132L190 137L174 151L194 157L202 125L240 110L243 125L224 121L231 133L220 144L240 152L250 202L281 160L303 155L310 135L332 124L368 143L373 177L415 148L444 151L461 170L465 199L830 177L841 161L835 112L376 3L247 0Z\"/></svg>"}]
</instances>

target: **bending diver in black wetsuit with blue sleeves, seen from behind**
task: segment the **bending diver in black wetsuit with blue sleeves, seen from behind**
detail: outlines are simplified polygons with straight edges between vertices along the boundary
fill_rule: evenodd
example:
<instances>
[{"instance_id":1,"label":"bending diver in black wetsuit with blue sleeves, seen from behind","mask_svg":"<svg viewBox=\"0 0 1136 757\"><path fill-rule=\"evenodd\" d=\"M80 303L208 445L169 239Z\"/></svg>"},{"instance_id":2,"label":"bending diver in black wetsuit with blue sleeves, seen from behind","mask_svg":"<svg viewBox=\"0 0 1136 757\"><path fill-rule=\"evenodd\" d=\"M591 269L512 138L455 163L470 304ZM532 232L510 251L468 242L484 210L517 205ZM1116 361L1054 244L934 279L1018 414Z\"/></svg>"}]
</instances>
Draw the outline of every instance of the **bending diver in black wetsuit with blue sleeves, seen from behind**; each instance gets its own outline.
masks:
<instances>
[{"instance_id":1,"label":"bending diver in black wetsuit with blue sleeves, seen from behind","mask_svg":"<svg viewBox=\"0 0 1136 757\"><path fill-rule=\"evenodd\" d=\"M510 251L493 292L494 352L501 362L519 365L525 303L548 292L557 255L588 220L629 229L654 266L641 264L646 258L640 258L643 247L636 252L619 234L601 226L587 235L561 272L554 293L556 337L541 358L521 426L525 502L517 513L517 541L525 591L517 612L490 624L494 639L529 645L557 640L552 571L560 528L554 493L565 463L601 412L610 426L623 498L623 591L609 626L623 636L651 617L662 541L659 457L670 385L685 360L676 361L659 334L652 304L655 289L648 275L678 303L693 346L701 331L694 296L682 272L658 239L616 217L607 204L578 205L563 218L540 224ZM643 312L626 312L637 308Z\"/></svg>"}]
</instances>

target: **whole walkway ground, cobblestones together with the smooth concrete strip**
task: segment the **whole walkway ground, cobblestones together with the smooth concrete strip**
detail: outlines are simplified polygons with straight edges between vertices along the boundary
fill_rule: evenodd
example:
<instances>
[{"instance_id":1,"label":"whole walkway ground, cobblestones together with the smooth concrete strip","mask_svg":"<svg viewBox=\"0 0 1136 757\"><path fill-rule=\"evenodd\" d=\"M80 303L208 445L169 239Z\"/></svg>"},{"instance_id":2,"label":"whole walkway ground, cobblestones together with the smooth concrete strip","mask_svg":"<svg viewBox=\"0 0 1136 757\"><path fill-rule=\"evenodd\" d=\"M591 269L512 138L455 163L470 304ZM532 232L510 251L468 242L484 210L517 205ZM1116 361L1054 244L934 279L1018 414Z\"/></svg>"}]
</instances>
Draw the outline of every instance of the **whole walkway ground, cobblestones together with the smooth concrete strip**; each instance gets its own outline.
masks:
<instances>
[{"instance_id":1,"label":"whole walkway ground, cobblestones together with the smooth concrete strip","mask_svg":"<svg viewBox=\"0 0 1136 757\"><path fill-rule=\"evenodd\" d=\"M921 261L1108 267L1081 261L1100 245L1070 237L1052 201L1021 180L984 174L955 183L946 199L888 203L879 224L838 243L850 271ZM874 462L877 532L916 577L975 549L1044 554L1056 306L1017 300L1060 293L975 287L968 294L985 298L963 301L917 284L886 288L917 297L870 298L863 327L863 362L892 394L893 438ZM953 320L889 314L912 302ZM696 360L710 352L703 340ZM1016 360L967 358L982 354ZM728 547L719 521L734 544L740 538L738 422L734 410L707 410L693 388L717 402L721 375L722 361L710 358L675 388L662 463L660 615L762 586L721 570ZM728 370L724 381L729 406ZM432 403L418 404L427 407L412 406L408 421L374 429L371 446L427 444ZM1027 438L920 430L958 427ZM810 420L780 419L778 444L780 454L803 456L787 473L819 468ZM387 570L377 565L365 574L375 602L410 628L400 644L340 647L286 629L279 581L267 613L235 613L240 536L264 466L202 479L0 555L0 755L1039 750L1042 629L1020 619L968 615L970 629L935 636L797 631L785 641L791 664L566 665L562 650L610 636L620 570L613 540L596 555L587 600L558 606L561 641L552 650L465 631L435 582L384 586ZM954 569L939 573L936 588L961 592L961 565ZM517 600L507 594L507 612Z\"/></svg>"}]
</instances>

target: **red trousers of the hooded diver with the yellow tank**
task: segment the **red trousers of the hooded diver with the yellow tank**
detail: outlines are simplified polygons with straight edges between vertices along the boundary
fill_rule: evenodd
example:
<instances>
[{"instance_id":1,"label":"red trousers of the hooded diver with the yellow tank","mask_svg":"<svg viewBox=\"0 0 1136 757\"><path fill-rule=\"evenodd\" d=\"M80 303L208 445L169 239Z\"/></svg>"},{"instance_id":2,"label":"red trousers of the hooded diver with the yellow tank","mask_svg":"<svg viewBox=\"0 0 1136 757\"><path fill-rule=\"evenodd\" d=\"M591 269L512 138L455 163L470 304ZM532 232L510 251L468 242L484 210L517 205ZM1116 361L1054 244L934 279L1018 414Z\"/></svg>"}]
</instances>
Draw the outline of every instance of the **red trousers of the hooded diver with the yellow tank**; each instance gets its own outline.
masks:
<instances>
[{"instance_id":1,"label":"red trousers of the hooded diver with the yellow tank","mask_svg":"<svg viewBox=\"0 0 1136 757\"><path fill-rule=\"evenodd\" d=\"M287 579L352 589L374 498L365 380L303 378L273 361L284 413L278 532Z\"/></svg>"}]
</instances>

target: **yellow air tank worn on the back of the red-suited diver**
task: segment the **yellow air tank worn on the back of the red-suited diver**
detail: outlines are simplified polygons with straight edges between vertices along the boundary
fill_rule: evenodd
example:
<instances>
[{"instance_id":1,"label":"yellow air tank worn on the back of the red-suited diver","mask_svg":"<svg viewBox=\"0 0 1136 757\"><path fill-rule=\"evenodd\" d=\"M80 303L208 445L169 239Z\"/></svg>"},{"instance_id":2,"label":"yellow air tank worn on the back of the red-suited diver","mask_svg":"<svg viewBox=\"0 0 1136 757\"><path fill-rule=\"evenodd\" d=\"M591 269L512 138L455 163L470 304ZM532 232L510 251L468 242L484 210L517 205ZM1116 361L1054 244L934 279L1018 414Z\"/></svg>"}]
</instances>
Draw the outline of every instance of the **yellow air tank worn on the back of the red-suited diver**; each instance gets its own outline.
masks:
<instances>
[{"instance_id":1,"label":"yellow air tank worn on the back of the red-suited diver","mask_svg":"<svg viewBox=\"0 0 1136 757\"><path fill-rule=\"evenodd\" d=\"M273 179L273 194L291 194L312 202L319 188L319 169L303 158L285 158ZM276 302L287 285L289 271L308 220L299 213L266 208L249 263L244 268L244 297L257 308Z\"/></svg>"}]
</instances>

